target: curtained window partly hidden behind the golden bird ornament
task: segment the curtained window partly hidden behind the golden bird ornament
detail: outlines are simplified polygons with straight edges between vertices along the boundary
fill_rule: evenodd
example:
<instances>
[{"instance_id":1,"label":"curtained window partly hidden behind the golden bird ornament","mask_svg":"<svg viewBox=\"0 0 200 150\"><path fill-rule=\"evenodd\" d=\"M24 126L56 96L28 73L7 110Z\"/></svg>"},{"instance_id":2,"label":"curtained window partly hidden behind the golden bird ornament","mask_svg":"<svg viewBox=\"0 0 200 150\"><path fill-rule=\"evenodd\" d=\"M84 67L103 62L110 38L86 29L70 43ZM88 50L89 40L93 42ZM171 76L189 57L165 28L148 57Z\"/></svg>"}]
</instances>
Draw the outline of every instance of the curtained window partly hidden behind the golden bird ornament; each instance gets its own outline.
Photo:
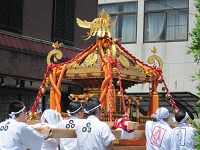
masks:
<instances>
[{"instance_id":1,"label":"curtained window partly hidden behind the golden bird ornament","mask_svg":"<svg viewBox=\"0 0 200 150\"><path fill-rule=\"evenodd\" d=\"M120 38L121 42L136 42L137 2L99 5L98 13L103 9L110 15L110 23L118 15L116 25L111 28L112 37Z\"/></svg>"}]
</instances>

